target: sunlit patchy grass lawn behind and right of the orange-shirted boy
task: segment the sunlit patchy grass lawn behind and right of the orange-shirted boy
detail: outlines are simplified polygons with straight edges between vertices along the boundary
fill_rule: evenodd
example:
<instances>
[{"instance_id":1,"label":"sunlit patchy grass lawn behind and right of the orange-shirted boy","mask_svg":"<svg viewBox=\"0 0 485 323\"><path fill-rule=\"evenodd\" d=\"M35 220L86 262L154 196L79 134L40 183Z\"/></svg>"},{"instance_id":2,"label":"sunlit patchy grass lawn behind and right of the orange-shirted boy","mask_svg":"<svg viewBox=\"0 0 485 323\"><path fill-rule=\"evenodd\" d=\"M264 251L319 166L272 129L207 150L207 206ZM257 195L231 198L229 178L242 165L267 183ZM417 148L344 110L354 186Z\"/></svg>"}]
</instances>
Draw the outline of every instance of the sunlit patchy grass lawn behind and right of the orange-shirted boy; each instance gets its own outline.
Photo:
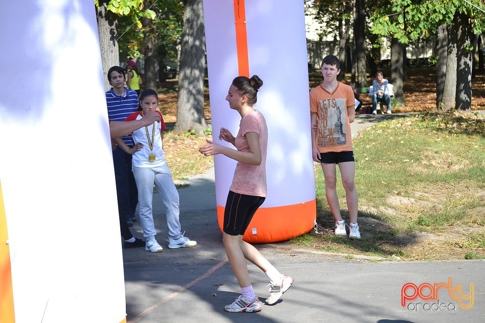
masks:
<instances>
[{"instance_id":1,"label":"sunlit patchy grass lawn behind and right of the orange-shirted boy","mask_svg":"<svg viewBox=\"0 0 485 323\"><path fill-rule=\"evenodd\" d=\"M310 233L313 247L406 260L485 257L482 117L424 113L383 121L354 140L354 151L362 239ZM323 174L315 173L317 223L331 228ZM348 219L342 185L337 195Z\"/></svg>"}]
</instances>

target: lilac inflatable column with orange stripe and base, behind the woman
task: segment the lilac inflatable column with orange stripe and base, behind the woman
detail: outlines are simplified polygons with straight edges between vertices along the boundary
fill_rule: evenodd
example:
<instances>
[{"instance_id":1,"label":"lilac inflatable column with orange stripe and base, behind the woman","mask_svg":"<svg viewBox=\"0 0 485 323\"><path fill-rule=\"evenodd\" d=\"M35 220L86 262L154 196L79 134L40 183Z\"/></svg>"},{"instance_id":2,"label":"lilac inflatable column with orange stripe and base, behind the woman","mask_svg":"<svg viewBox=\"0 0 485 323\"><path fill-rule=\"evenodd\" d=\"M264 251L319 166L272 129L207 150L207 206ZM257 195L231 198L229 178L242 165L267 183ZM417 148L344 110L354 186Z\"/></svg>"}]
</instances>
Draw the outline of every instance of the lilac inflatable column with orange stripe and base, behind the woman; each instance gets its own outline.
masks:
<instances>
[{"instance_id":1,"label":"lilac inflatable column with orange stripe and base, behind the woman","mask_svg":"<svg viewBox=\"0 0 485 323\"><path fill-rule=\"evenodd\" d=\"M244 240L276 242L307 233L316 219L316 203L304 4L206 0L204 20L213 133L221 127L232 133L238 129L240 116L224 100L235 76L257 74L264 83L255 107L268 124L268 196ZM216 155L214 163L222 230L235 161Z\"/></svg>"}]
</instances>

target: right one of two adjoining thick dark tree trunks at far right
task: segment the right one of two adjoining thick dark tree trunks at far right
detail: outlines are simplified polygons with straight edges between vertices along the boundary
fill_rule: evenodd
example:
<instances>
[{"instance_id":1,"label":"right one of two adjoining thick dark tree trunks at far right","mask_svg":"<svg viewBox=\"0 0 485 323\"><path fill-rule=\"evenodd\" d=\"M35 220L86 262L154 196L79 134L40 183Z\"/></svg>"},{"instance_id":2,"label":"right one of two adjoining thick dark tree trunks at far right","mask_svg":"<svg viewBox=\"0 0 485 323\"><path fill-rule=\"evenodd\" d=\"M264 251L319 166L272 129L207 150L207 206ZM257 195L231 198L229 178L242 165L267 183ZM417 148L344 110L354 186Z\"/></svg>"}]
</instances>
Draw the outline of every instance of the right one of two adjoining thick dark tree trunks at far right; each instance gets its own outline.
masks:
<instances>
[{"instance_id":1,"label":"right one of two adjoining thick dark tree trunks at far right","mask_svg":"<svg viewBox=\"0 0 485 323\"><path fill-rule=\"evenodd\" d=\"M457 71L456 71L456 110L468 111L471 109L471 25L468 17L464 14L457 14Z\"/></svg>"}]
</instances>

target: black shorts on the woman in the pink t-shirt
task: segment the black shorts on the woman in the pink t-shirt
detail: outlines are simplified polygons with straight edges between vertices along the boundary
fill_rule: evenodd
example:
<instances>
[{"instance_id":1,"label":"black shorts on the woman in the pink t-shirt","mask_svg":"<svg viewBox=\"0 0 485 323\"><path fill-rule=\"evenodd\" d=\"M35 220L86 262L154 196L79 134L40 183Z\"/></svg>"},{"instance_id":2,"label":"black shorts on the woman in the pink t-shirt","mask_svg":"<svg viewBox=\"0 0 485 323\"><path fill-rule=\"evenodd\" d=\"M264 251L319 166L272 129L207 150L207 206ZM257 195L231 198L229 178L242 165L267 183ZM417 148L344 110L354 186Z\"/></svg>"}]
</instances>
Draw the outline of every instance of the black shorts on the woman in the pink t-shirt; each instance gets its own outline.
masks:
<instances>
[{"instance_id":1,"label":"black shorts on the woman in the pink t-shirt","mask_svg":"<svg viewBox=\"0 0 485 323\"><path fill-rule=\"evenodd\" d=\"M229 191L224 209L223 231L231 236L244 235L265 197Z\"/></svg>"}]
</instances>

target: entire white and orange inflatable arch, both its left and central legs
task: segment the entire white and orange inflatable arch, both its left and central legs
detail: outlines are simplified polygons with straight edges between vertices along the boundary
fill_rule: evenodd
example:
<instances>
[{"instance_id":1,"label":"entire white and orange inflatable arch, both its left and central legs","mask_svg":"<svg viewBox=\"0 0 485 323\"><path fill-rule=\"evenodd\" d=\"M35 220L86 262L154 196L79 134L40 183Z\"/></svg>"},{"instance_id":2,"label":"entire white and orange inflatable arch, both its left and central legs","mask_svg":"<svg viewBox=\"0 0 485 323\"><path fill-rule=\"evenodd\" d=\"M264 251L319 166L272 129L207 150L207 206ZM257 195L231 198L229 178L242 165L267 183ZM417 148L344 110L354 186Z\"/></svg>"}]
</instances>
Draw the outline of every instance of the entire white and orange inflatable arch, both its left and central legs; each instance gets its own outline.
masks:
<instances>
[{"instance_id":1,"label":"entire white and orange inflatable arch, both its left and central legs","mask_svg":"<svg viewBox=\"0 0 485 323\"><path fill-rule=\"evenodd\" d=\"M234 76L264 81L257 108L270 130L269 195L245 236L254 242L301 235L315 220L304 9L280 5L204 2L214 129L238 127L224 101ZM0 136L8 140L0 158L0 321L126 322L93 1L0 8L8 26L0 28L8 48L0 52ZM216 156L215 164L222 219L235 163ZM96 232L86 221L93 217Z\"/></svg>"}]
</instances>

